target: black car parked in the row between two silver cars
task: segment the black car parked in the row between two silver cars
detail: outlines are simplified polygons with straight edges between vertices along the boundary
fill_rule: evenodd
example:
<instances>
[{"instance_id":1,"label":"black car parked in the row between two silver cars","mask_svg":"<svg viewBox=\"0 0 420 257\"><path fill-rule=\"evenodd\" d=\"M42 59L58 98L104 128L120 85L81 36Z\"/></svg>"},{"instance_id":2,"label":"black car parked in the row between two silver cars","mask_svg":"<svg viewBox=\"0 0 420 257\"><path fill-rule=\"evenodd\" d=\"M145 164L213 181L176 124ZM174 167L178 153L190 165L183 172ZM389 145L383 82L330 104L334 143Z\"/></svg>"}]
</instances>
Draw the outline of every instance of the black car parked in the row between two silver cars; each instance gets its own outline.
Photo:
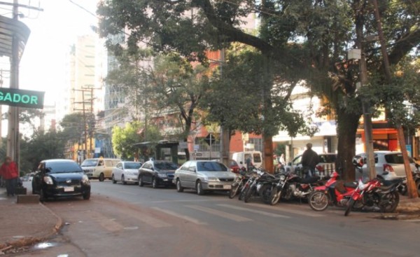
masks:
<instances>
[{"instance_id":1,"label":"black car parked in the row between two silver cars","mask_svg":"<svg viewBox=\"0 0 420 257\"><path fill-rule=\"evenodd\" d=\"M178 165L166 160L149 160L139 169L139 186L145 183L151 184L153 188L158 186L172 186L175 170Z\"/></svg>"}]
</instances>

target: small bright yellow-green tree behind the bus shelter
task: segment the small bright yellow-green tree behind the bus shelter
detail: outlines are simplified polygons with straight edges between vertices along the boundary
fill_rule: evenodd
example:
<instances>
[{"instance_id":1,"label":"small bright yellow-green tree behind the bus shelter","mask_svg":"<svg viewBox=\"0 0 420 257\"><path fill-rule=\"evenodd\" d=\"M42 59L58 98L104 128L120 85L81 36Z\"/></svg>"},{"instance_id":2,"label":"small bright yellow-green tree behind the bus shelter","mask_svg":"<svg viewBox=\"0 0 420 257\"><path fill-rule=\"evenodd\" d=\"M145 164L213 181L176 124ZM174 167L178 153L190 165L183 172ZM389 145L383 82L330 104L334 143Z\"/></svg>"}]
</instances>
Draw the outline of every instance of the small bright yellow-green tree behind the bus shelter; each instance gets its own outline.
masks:
<instances>
[{"instance_id":1,"label":"small bright yellow-green tree behind the bus shelter","mask_svg":"<svg viewBox=\"0 0 420 257\"><path fill-rule=\"evenodd\" d=\"M150 141L148 148L151 150L160 139L160 133L156 127L153 125L145 127L139 121L126 123L125 127L116 126L112 130L113 151L124 160L139 158L139 146L135 144Z\"/></svg>"}]
</instances>

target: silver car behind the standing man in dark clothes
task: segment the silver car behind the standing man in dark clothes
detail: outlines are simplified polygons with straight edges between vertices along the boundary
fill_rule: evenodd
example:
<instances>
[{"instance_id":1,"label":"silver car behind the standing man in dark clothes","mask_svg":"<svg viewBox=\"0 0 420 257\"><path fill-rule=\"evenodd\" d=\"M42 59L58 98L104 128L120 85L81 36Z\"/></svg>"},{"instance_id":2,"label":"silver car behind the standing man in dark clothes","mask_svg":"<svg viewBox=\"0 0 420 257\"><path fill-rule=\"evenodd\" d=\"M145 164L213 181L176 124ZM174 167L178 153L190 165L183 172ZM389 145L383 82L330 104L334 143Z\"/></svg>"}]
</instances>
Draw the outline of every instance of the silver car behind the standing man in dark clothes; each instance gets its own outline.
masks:
<instances>
[{"instance_id":1,"label":"silver car behind the standing man in dark clothes","mask_svg":"<svg viewBox=\"0 0 420 257\"><path fill-rule=\"evenodd\" d=\"M337 154L335 153L319 153L319 163L316 165L319 172L323 172L323 175L330 174L335 170L335 160L337 159ZM302 155L297 155L291 162L288 162L288 165L284 167L286 172L295 172L300 174L302 171ZM325 172L324 172L325 171Z\"/></svg>"}]
</instances>

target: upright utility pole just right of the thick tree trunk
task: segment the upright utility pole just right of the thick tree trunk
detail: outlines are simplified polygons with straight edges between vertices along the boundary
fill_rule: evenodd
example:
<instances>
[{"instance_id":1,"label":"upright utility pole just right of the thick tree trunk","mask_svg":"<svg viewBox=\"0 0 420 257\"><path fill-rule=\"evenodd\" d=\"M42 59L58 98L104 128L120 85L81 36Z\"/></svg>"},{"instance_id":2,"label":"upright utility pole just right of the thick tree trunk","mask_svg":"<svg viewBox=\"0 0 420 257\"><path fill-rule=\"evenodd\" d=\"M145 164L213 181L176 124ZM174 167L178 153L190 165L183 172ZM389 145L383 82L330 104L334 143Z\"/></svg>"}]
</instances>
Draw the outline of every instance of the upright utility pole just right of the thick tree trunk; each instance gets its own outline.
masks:
<instances>
[{"instance_id":1,"label":"upright utility pole just right of the thick tree trunk","mask_svg":"<svg viewBox=\"0 0 420 257\"><path fill-rule=\"evenodd\" d=\"M363 50L363 4L360 1L355 1L356 7L356 46L360 50L360 87L367 84L367 66L365 60L365 53ZM363 126L365 129L365 148L367 154L367 169L369 170L369 178L376 178L376 170L374 168L374 151L373 151L373 139L372 139L372 115L370 113L369 102L362 97L362 108L363 108Z\"/></svg>"}]
</instances>

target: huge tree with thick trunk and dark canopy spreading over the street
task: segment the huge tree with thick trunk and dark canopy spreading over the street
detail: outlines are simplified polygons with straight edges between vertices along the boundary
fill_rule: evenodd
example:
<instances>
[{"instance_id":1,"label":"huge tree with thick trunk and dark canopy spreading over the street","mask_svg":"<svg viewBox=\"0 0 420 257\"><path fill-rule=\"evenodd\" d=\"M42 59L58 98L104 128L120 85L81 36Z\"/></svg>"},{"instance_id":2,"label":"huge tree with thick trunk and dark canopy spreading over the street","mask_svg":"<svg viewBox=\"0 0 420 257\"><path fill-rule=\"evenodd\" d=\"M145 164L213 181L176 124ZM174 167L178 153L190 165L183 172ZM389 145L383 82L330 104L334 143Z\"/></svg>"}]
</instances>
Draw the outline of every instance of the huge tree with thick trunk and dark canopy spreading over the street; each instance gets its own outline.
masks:
<instances>
[{"instance_id":1,"label":"huge tree with thick trunk and dark canopy spreading over the street","mask_svg":"<svg viewBox=\"0 0 420 257\"><path fill-rule=\"evenodd\" d=\"M381 1L380 13L393 65L419 46L419 10L418 1ZM205 50L225 48L233 42L260 50L267 58L267 67L276 62L276 76L286 81L300 78L329 100L337 118L337 166L347 179L353 179L351 158L361 115L356 93L359 74L357 63L346 60L346 50L358 43L354 31L358 22L365 29L363 36L377 33L369 1L109 0L99 4L98 13L102 36L118 34L125 28L130 31L129 49L147 41L158 52L175 50L203 63L207 61ZM258 35L240 28L241 20L251 13L261 19ZM121 48L112 41L107 45L111 50ZM375 43L363 42L363 46L367 49L368 70L383 77L379 72L383 60ZM271 86L267 85L267 89ZM271 102L265 101L264 112L271 113L271 108Z\"/></svg>"}]
</instances>

